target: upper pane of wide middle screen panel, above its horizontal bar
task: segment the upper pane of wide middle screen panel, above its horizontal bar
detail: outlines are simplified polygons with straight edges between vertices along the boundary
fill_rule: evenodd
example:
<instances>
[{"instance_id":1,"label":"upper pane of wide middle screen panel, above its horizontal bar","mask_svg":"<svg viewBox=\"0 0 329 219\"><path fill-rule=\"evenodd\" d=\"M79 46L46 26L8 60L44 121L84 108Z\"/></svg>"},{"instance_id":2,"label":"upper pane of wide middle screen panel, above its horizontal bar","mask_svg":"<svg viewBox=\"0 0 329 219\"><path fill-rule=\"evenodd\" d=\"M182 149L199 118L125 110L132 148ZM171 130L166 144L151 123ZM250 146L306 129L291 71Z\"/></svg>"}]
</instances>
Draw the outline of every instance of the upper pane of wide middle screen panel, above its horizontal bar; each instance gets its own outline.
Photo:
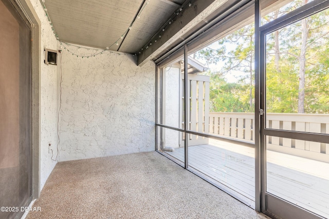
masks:
<instances>
[{"instance_id":1,"label":"upper pane of wide middle screen panel, above its horizontal bar","mask_svg":"<svg viewBox=\"0 0 329 219\"><path fill-rule=\"evenodd\" d=\"M251 23L189 53L188 130L254 143L253 41Z\"/></svg>"}]
</instances>

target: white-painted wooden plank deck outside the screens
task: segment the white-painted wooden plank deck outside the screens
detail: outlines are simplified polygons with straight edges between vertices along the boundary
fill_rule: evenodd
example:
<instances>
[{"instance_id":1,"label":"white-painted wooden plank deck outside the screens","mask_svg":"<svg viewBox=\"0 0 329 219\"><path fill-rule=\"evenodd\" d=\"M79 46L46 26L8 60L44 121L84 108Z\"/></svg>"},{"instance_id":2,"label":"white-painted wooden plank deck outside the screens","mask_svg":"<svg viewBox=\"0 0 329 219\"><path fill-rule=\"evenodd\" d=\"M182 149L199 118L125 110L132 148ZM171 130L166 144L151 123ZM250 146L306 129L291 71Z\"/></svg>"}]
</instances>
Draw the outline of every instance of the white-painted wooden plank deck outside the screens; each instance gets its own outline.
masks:
<instances>
[{"instance_id":1,"label":"white-painted wooden plank deck outside the screens","mask_svg":"<svg viewBox=\"0 0 329 219\"><path fill-rule=\"evenodd\" d=\"M166 152L184 161L184 148ZM254 208L254 149L209 140L189 147L189 166ZM329 218L329 163L267 151L267 192ZM227 190L227 189L226 189Z\"/></svg>"}]
</instances>

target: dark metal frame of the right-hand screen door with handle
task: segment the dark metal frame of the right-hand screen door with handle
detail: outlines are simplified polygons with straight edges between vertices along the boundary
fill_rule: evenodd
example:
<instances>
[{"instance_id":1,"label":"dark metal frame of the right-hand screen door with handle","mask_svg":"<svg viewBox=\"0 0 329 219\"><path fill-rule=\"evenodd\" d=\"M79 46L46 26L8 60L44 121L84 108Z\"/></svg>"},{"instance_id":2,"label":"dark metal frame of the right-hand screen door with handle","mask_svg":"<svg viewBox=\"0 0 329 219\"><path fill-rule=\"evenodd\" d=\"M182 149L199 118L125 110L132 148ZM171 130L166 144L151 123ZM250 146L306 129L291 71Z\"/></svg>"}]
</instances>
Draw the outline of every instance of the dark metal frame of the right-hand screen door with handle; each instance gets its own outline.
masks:
<instances>
[{"instance_id":1,"label":"dark metal frame of the right-hand screen door with handle","mask_svg":"<svg viewBox=\"0 0 329 219\"><path fill-rule=\"evenodd\" d=\"M256 70L258 75L255 79L257 99L255 118L260 136L258 143L256 143L256 210L263 212L273 218L322 218L306 209L303 209L297 205L284 201L280 197L274 196L266 192L266 135L288 137L298 140L314 141L329 143L327 134L306 133L298 131L286 131L286 130L273 130L266 128L266 78L265 78L265 65L266 65L266 34L288 26L292 23L300 21L301 19L310 15L316 14L322 10L329 8L329 1L315 0L307 5L304 5L282 17L279 17L275 21L260 26L261 10L260 0L255 1L255 33L259 36L255 39L255 54L257 55L255 60ZM255 34L255 35L258 35ZM257 127L256 127L257 128Z\"/></svg>"}]
</instances>

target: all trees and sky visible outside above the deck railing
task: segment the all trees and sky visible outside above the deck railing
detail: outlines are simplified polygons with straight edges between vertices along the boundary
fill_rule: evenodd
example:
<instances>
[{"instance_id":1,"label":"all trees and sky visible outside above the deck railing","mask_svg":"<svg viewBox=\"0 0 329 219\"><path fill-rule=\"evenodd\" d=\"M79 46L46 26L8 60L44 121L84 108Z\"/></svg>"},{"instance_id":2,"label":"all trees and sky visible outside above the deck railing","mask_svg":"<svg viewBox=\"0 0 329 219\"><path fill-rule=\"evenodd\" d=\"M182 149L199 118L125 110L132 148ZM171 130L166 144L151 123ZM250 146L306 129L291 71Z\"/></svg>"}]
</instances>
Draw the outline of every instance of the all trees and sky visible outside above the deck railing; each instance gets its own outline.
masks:
<instances>
[{"instance_id":1,"label":"all trees and sky visible outside above the deck railing","mask_svg":"<svg viewBox=\"0 0 329 219\"><path fill-rule=\"evenodd\" d=\"M264 22L306 3L294 1L266 15ZM211 111L254 111L253 34L250 24L196 53L209 66L221 66L207 73ZM229 82L227 75L239 76ZM329 10L266 36L266 110L329 113Z\"/></svg>"}]
</instances>

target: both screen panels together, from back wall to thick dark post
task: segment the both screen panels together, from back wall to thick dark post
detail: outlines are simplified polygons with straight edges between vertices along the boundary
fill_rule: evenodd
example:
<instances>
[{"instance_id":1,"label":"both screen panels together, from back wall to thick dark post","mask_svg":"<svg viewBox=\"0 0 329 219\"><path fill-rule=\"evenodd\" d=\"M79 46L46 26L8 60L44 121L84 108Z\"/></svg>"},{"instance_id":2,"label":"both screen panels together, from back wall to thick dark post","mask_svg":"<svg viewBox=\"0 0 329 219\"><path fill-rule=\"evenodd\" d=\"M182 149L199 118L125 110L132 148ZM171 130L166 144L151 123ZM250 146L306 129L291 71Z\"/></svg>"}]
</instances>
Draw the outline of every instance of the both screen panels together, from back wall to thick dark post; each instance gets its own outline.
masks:
<instances>
[{"instance_id":1,"label":"both screen panels together, from back wall to thick dark post","mask_svg":"<svg viewBox=\"0 0 329 219\"><path fill-rule=\"evenodd\" d=\"M251 208L253 31L251 23L201 49L189 50L187 44L184 56L158 65L156 129L160 153ZM242 33L250 38L239 47L235 42ZM246 57L237 52L242 49ZM234 57L224 58L229 56Z\"/></svg>"}]
</instances>

